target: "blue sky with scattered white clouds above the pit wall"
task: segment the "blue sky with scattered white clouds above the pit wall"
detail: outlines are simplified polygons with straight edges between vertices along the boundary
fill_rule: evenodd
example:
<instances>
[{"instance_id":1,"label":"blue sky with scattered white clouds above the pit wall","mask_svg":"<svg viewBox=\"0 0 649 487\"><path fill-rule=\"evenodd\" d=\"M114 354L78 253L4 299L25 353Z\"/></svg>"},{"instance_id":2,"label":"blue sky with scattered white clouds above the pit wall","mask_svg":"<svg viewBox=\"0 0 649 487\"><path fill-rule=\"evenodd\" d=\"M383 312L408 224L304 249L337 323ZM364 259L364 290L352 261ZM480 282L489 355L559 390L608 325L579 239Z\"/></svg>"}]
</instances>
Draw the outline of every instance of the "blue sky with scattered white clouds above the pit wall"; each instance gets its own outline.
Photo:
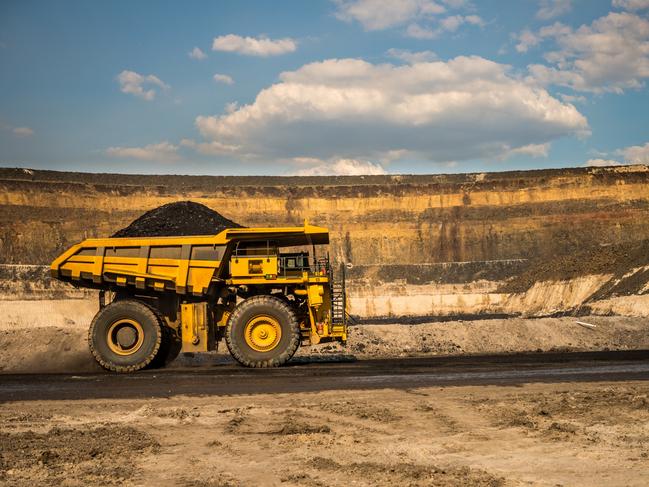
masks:
<instances>
[{"instance_id":1,"label":"blue sky with scattered white clouds above the pit wall","mask_svg":"<svg viewBox=\"0 0 649 487\"><path fill-rule=\"evenodd\" d=\"M649 0L0 3L0 166L649 163Z\"/></svg>"}]
</instances>

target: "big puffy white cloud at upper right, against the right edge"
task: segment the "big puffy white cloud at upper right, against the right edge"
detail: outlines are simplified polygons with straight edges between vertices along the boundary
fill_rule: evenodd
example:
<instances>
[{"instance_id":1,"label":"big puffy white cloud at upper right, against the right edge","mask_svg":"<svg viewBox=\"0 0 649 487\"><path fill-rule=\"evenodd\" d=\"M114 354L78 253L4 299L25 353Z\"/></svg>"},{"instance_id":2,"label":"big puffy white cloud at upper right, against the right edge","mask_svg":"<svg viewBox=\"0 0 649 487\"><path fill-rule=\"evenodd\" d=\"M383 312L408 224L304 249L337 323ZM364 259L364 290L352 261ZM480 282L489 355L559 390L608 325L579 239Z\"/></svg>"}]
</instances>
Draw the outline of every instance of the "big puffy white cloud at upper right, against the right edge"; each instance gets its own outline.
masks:
<instances>
[{"instance_id":1,"label":"big puffy white cloud at upper right, against the right edge","mask_svg":"<svg viewBox=\"0 0 649 487\"><path fill-rule=\"evenodd\" d=\"M551 66L529 66L530 79L578 91L622 93L641 88L649 78L649 20L609 13L576 30L560 23L539 36L552 38L558 50L545 54Z\"/></svg>"}]
</instances>

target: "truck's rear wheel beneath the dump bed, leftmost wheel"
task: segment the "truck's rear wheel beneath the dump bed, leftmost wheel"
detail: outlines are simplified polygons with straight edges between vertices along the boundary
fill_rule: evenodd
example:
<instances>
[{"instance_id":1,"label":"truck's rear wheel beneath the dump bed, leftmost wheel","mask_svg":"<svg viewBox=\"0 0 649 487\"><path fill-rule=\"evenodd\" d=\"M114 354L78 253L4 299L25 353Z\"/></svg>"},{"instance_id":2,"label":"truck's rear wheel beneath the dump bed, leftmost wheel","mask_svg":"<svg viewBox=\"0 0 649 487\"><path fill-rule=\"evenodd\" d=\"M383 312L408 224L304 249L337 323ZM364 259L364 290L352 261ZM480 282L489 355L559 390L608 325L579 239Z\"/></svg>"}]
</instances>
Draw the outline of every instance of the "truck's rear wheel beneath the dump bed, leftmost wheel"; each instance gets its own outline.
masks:
<instances>
[{"instance_id":1,"label":"truck's rear wheel beneath the dump bed, leftmost wheel","mask_svg":"<svg viewBox=\"0 0 649 487\"><path fill-rule=\"evenodd\" d=\"M129 346L130 340L134 342ZM101 309L88 332L90 352L99 365L113 372L143 369L156 358L161 343L160 318L152 308L132 299L114 301Z\"/></svg>"}]
</instances>

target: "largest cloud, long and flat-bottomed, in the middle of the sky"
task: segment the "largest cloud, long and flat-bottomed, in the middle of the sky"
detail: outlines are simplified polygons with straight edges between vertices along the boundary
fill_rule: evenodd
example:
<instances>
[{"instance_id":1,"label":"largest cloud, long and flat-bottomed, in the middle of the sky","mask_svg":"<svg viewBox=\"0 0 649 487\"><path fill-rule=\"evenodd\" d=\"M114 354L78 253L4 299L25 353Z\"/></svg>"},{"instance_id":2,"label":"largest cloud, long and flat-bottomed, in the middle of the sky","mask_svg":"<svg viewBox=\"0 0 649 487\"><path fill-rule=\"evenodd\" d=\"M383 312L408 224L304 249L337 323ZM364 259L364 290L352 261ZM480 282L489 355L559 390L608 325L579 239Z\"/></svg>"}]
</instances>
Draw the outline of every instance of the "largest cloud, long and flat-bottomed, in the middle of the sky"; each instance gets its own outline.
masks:
<instances>
[{"instance_id":1,"label":"largest cloud, long and flat-bottomed, in the middle of the sky","mask_svg":"<svg viewBox=\"0 0 649 487\"><path fill-rule=\"evenodd\" d=\"M570 104L480 57L410 65L330 59L284 72L254 102L199 116L206 144L249 157L436 162L502 157L588 133ZM204 147L207 149L208 147Z\"/></svg>"}]
</instances>

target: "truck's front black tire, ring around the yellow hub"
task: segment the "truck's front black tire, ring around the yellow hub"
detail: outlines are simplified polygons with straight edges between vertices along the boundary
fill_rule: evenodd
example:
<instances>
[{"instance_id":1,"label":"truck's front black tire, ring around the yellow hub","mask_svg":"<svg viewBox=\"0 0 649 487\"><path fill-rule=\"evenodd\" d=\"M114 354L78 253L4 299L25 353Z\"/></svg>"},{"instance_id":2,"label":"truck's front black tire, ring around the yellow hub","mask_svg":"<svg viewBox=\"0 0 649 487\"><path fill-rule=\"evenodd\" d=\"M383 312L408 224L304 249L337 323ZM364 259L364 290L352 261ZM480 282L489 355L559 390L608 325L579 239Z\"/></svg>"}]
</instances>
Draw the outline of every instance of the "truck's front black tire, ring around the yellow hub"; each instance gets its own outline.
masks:
<instances>
[{"instance_id":1,"label":"truck's front black tire, ring around the yellow hub","mask_svg":"<svg viewBox=\"0 0 649 487\"><path fill-rule=\"evenodd\" d=\"M269 350L253 348L246 340L247 325L268 317L281 329L276 345ZM230 315L225 332L230 354L246 367L279 367L288 362L300 346L300 325L293 309L273 296L253 296L240 303Z\"/></svg>"}]
</instances>

